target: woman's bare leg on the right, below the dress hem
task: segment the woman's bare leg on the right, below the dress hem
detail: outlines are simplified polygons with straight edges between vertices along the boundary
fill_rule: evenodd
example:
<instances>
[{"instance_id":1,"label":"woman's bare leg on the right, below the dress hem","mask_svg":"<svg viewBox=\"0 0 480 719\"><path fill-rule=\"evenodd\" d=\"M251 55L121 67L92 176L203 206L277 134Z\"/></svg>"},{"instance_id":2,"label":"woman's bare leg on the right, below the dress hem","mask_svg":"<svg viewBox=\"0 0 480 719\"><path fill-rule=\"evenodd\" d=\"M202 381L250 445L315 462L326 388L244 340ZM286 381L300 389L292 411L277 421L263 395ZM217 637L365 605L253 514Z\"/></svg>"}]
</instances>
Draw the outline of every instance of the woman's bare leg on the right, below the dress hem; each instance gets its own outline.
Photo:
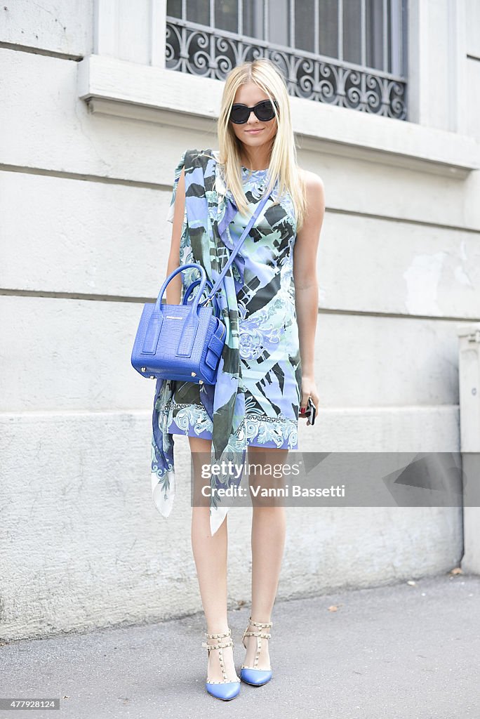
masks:
<instances>
[{"instance_id":1,"label":"woman's bare leg on the right, below the dress hem","mask_svg":"<svg viewBox=\"0 0 480 719\"><path fill-rule=\"evenodd\" d=\"M263 456L262 456L263 453ZM268 453L268 454L266 454ZM249 446L249 462L264 464L264 462L285 462L287 449L263 449ZM262 462L262 460L264 460ZM249 475L250 485L257 485L260 477ZM278 482L283 485L284 480ZM278 580L282 566L282 557L285 549L285 507L281 504L274 506L271 498L258 500L251 496L253 504L253 517L251 523L251 618L257 622L269 622L277 595ZM257 627L249 626L249 631L259 631ZM262 629L261 631L269 631ZM253 667L257 638L247 636L245 664ZM262 638L258 669L269 669L269 640Z\"/></svg>"}]
</instances>

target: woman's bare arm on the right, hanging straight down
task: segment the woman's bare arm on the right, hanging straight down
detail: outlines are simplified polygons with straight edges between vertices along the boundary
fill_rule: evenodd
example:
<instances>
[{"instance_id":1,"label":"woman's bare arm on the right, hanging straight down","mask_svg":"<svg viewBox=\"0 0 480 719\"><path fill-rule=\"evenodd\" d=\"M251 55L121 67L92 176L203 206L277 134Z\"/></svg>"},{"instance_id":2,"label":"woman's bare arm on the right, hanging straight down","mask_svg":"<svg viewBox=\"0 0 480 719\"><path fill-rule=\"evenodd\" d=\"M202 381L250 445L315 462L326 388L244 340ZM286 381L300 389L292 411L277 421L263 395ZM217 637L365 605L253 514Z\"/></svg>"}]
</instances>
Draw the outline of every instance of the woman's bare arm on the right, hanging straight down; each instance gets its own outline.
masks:
<instances>
[{"instance_id":1,"label":"woman's bare arm on the right, hanging straight down","mask_svg":"<svg viewBox=\"0 0 480 719\"><path fill-rule=\"evenodd\" d=\"M309 395L316 411L319 410L320 398L314 376L315 331L318 320L317 251L325 214L323 181L315 173L305 172L305 186L307 193L305 221L302 229L297 232L293 253L295 308L302 364L301 414L305 412Z\"/></svg>"}]
</instances>

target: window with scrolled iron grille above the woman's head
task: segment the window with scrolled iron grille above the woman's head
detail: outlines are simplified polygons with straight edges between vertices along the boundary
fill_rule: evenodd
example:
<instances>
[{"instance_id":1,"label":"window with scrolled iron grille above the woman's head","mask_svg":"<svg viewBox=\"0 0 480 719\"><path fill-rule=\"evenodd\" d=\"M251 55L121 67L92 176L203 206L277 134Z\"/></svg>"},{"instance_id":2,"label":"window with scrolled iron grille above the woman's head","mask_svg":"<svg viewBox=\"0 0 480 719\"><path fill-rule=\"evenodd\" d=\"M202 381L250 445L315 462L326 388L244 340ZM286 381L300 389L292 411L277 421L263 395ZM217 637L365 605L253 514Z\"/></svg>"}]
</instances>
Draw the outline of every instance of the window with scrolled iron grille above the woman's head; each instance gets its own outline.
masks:
<instances>
[{"instance_id":1,"label":"window with scrolled iron grille above the woman's head","mask_svg":"<svg viewBox=\"0 0 480 719\"><path fill-rule=\"evenodd\" d=\"M168 0L167 68L267 57L291 95L407 119L407 0Z\"/></svg>"}]
</instances>

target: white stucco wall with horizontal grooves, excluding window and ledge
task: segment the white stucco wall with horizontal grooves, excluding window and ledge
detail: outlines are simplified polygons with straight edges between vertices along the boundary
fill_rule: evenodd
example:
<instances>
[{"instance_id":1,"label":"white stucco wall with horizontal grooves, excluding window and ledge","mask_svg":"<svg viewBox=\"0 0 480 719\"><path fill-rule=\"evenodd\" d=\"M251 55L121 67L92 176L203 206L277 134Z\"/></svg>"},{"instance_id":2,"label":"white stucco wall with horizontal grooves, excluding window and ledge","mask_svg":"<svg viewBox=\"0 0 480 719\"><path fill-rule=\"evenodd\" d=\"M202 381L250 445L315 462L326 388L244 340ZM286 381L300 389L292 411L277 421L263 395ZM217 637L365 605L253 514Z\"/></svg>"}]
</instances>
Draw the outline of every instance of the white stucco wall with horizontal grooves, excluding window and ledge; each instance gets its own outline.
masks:
<instances>
[{"instance_id":1,"label":"white stucco wall with horizontal grooves, excluding window and ledge","mask_svg":"<svg viewBox=\"0 0 480 719\"><path fill-rule=\"evenodd\" d=\"M93 5L42 6L11 4L0 24L6 639L201 608L188 440L175 436L165 521L150 492L154 383L130 353L142 304L165 278L173 169L215 137L89 113L77 59L92 52ZM458 451L456 326L480 315L478 172L448 177L302 142L299 160L323 178L327 202L321 411L314 428L300 424L300 448ZM249 600L249 521L249 510L230 513L232 608ZM288 525L279 598L448 571L462 554L458 508L292 508Z\"/></svg>"}]
</instances>

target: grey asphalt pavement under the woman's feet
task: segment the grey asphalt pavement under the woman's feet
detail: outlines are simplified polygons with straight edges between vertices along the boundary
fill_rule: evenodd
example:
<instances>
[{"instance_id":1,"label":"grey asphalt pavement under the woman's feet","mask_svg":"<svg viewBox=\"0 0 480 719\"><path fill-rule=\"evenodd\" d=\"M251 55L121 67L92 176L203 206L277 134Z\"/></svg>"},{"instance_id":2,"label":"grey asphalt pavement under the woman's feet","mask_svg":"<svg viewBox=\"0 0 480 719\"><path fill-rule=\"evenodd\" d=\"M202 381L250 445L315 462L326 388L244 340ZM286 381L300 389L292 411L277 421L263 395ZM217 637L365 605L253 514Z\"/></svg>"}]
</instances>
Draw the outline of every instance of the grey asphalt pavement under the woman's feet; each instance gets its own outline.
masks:
<instances>
[{"instance_id":1,"label":"grey asphalt pavement under the woman's feet","mask_svg":"<svg viewBox=\"0 0 480 719\"><path fill-rule=\"evenodd\" d=\"M229 611L237 673L248 618ZM0 719L480 719L479 576L277 600L272 622L272 680L230 702L205 689L203 613L5 644L0 696L60 710Z\"/></svg>"}]
</instances>

